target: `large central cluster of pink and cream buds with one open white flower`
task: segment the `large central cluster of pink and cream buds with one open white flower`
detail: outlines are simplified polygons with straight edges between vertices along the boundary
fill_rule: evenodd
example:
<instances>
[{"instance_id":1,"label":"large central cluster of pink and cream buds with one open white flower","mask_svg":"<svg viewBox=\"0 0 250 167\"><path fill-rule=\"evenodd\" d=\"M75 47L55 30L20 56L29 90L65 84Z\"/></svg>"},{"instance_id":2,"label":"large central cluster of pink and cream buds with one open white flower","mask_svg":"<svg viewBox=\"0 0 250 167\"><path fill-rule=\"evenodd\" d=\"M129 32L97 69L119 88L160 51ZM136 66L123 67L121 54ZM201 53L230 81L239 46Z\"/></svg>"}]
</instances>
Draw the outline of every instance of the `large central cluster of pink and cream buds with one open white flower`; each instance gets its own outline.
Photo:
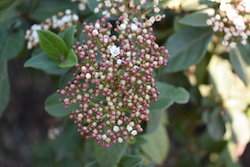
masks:
<instances>
[{"instance_id":1,"label":"large central cluster of pink and cream buds with one open white flower","mask_svg":"<svg viewBox=\"0 0 250 167\"><path fill-rule=\"evenodd\" d=\"M149 120L150 101L157 101L153 70L167 65L168 50L155 43L153 29L129 23L124 17L115 26L107 18L83 23L89 40L77 42L74 80L57 92L68 108L78 104L70 118L86 139L109 147L133 140Z\"/></svg>"}]
</instances>

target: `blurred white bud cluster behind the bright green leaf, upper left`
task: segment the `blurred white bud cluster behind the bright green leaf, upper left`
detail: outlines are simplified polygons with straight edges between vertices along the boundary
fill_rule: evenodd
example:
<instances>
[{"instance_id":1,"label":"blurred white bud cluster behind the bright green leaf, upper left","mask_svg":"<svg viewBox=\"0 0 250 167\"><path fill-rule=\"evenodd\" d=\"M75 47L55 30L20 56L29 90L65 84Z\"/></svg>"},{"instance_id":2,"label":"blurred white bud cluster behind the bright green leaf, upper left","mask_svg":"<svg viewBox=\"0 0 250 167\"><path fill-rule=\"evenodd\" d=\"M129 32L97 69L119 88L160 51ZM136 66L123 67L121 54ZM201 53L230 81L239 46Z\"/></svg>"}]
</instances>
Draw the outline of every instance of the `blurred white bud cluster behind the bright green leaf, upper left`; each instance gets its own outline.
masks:
<instances>
[{"instance_id":1,"label":"blurred white bud cluster behind the bright green leaf, upper left","mask_svg":"<svg viewBox=\"0 0 250 167\"><path fill-rule=\"evenodd\" d=\"M70 9L65 13L59 12L58 15L53 16L51 19L46 19L41 24L34 24L29 30L26 31L25 39L28 40L27 48L32 49L39 43L36 30L66 30L68 27L77 24L79 20L78 15L73 14Z\"/></svg>"}]
</instances>

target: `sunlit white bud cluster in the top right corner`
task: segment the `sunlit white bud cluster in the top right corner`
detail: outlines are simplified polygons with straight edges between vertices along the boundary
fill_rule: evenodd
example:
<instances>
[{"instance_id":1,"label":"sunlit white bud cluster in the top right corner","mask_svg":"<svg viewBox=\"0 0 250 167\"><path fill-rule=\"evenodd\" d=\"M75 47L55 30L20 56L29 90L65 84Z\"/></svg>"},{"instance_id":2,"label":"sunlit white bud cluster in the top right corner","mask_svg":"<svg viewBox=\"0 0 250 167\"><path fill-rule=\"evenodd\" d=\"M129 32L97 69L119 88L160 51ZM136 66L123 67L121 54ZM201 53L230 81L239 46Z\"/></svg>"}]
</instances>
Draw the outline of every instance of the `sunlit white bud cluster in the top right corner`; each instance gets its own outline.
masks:
<instances>
[{"instance_id":1,"label":"sunlit white bud cluster in the top right corner","mask_svg":"<svg viewBox=\"0 0 250 167\"><path fill-rule=\"evenodd\" d=\"M249 0L221 0L219 14L207 20L214 32L223 35L222 44L234 48L236 43L245 45L250 36L250 20L244 18L250 12Z\"/></svg>"}]
</instances>

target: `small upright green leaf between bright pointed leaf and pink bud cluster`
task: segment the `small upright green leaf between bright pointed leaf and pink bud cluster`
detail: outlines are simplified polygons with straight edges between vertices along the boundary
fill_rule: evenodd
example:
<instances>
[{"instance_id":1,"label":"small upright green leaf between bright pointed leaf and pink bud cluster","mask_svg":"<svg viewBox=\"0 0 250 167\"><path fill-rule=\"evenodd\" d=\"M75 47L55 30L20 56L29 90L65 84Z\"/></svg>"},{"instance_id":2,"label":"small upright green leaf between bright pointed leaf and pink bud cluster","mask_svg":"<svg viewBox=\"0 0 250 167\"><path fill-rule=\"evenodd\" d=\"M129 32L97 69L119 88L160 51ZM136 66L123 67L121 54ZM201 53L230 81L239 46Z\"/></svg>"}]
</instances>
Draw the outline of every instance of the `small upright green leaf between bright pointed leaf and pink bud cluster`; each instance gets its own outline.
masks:
<instances>
[{"instance_id":1,"label":"small upright green leaf between bright pointed leaf and pink bud cluster","mask_svg":"<svg viewBox=\"0 0 250 167\"><path fill-rule=\"evenodd\" d=\"M67 28L66 31L62 34L62 39L66 43L68 49L71 49L74 44L74 35L75 35L76 26L71 26Z\"/></svg>"}]
</instances>

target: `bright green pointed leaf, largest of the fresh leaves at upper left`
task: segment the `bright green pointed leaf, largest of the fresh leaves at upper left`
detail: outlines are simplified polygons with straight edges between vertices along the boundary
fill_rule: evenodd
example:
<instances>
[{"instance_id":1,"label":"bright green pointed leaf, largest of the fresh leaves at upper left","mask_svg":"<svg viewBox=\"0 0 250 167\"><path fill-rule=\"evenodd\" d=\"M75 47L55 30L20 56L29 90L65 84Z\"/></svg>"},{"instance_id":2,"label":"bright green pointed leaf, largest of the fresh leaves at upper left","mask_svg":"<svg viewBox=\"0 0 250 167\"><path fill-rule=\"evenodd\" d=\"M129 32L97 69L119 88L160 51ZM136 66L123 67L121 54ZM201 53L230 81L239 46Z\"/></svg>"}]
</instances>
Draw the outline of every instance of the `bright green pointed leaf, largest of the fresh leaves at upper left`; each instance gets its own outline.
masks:
<instances>
[{"instance_id":1,"label":"bright green pointed leaf, largest of the fresh leaves at upper left","mask_svg":"<svg viewBox=\"0 0 250 167\"><path fill-rule=\"evenodd\" d=\"M41 48L51 59L60 60L61 57L66 57L68 48L58 35L48 30L37 30L37 34Z\"/></svg>"}]
</instances>

